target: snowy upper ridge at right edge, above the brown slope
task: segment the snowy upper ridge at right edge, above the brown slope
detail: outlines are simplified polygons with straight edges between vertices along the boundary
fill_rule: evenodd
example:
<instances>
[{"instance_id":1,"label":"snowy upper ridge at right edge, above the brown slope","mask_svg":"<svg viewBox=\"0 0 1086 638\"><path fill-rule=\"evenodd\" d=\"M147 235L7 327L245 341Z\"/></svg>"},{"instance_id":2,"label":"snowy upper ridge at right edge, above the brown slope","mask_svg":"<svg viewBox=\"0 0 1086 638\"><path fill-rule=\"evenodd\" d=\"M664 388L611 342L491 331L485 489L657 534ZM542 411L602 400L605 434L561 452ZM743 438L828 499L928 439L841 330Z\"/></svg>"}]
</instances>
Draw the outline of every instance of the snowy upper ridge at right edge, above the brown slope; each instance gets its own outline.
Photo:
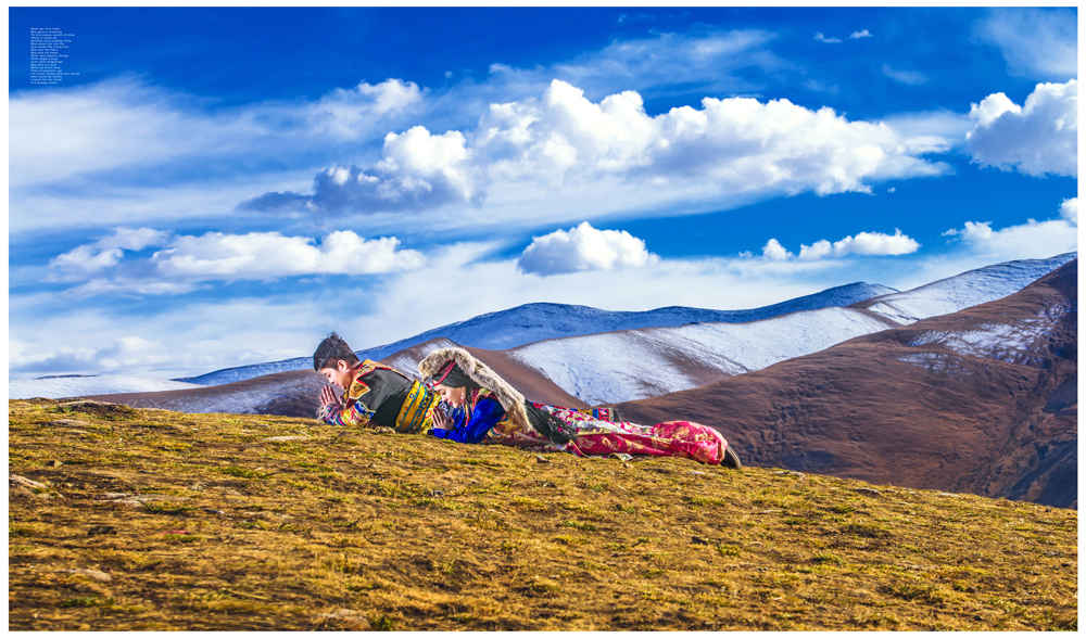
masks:
<instances>
[{"instance_id":1,"label":"snowy upper ridge at right edge, above the brown slope","mask_svg":"<svg viewBox=\"0 0 1086 638\"><path fill-rule=\"evenodd\" d=\"M910 291L866 299L854 307L877 312L904 326L1006 297L1077 256L1078 253L1064 253L1048 259L1019 259L986 266Z\"/></svg>"}]
</instances>

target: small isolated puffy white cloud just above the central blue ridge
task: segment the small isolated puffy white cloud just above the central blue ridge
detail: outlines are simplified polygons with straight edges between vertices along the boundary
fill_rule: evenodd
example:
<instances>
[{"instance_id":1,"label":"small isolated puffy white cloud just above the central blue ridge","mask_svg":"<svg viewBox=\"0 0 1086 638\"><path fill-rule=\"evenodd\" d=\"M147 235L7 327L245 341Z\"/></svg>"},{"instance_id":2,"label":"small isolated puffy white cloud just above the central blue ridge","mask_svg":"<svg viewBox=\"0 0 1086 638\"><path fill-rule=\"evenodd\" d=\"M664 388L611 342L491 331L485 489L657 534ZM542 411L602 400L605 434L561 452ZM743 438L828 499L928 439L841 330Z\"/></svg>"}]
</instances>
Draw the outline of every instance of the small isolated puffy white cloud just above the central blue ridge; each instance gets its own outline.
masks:
<instances>
[{"instance_id":1,"label":"small isolated puffy white cloud just above the central blue ridge","mask_svg":"<svg viewBox=\"0 0 1086 638\"><path fill-rule=\"evenodd\" d=\"M659 263L645 241L624 230L596 230L588 222L533 237L517 261L521 272L548 276L582 270L640 268Z\"/></svg>"}]
</instances>

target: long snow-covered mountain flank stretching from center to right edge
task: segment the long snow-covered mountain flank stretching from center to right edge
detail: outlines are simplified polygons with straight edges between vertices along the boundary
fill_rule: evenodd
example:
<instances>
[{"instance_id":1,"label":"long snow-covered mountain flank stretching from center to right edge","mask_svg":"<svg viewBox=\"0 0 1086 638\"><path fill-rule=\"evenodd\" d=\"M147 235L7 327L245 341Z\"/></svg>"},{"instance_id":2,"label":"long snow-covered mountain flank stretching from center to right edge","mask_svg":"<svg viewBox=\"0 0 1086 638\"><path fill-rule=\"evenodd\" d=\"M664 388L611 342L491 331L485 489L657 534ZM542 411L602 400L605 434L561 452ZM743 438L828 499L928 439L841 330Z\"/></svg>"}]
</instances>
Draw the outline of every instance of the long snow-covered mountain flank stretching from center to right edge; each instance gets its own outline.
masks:
<instances>
[{"instance_id":1,"label":"long snow-covered mountain flank stretching from center to right edge","mask_svg":"<svg viewBox=\"0 0 1086 638\"><path fill-rule=\"evenodd\" d=\"M1025 259L970 270L848 308L752 321L647 328L547 340L509 355L589 405L699 387L843 341L1013 294L1075 258ZM864 311L867 310L867 311Z\"/></svg>"}]
</instances>

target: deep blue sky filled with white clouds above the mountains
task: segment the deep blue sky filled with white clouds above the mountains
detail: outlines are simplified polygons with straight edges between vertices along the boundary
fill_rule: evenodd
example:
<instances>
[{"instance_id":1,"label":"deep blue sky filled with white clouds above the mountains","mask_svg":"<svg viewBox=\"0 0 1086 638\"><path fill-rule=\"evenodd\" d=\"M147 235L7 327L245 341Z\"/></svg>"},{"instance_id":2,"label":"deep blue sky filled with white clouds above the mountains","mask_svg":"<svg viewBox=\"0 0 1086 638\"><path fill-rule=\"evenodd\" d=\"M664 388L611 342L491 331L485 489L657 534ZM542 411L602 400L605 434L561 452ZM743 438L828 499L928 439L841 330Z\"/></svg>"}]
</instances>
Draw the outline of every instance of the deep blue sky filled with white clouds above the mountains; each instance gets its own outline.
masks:
<instances>
[{"instance_id":1,"label":"deep blue sky filled with white clouds above the mountains","mask_svg":"<svg viewBox=\"0 0 1086 638\"><path fill-rule=\"evenodd\" d=\"M74 34L53 86L29 33ZM9 11L9 373L1077 250L1075 9Z\"/></svg>"}]
</instances>

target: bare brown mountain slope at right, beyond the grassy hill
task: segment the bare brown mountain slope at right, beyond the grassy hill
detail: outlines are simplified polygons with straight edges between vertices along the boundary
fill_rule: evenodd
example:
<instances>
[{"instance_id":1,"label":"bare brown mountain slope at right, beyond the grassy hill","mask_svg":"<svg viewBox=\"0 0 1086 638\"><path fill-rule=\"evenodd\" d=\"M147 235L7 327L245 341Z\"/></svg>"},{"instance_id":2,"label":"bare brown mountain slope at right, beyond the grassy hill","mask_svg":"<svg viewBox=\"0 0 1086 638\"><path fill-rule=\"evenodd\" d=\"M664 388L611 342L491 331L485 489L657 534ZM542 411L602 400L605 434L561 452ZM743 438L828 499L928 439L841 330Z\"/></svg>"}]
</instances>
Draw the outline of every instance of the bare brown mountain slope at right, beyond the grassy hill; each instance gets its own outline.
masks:
<instances>
[{"instance_id":1,"label":"bare brown mountain slope at right, beyond the grassy hill","mask_svg":"<svg viewBox=\"0 0 1086 638\"><path fill-rule=\"evenodd\" d=\"M1077 260L1022 291L618 405L718 428L744 463L1055 506L1077 499Z\"/></svg>"}]
</instances>

